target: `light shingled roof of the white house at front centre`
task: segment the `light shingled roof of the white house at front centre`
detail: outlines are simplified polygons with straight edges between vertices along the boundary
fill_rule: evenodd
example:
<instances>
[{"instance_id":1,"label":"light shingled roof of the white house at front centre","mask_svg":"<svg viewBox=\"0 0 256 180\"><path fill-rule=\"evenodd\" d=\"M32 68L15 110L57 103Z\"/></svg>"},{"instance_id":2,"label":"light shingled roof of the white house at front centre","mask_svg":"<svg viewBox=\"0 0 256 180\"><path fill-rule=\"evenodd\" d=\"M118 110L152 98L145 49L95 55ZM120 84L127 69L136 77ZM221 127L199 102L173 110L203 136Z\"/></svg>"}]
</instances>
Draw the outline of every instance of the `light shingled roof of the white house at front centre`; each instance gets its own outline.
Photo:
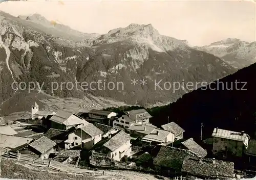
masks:
<instances>
[{"instance_id":1,"label":"light shingled roof of the white house at front centre","mask_svg":"<svg viewBox=\"0 0 256 180\"><path fill-rule=\"evenodd\" d=\"M108 142L103 144L103 146L109 148L111 151L115 151L130 139L131 137L129 134L126 134L124 131L120 131L115 136L113 136Z\"/></svg>"}]
</instances>

